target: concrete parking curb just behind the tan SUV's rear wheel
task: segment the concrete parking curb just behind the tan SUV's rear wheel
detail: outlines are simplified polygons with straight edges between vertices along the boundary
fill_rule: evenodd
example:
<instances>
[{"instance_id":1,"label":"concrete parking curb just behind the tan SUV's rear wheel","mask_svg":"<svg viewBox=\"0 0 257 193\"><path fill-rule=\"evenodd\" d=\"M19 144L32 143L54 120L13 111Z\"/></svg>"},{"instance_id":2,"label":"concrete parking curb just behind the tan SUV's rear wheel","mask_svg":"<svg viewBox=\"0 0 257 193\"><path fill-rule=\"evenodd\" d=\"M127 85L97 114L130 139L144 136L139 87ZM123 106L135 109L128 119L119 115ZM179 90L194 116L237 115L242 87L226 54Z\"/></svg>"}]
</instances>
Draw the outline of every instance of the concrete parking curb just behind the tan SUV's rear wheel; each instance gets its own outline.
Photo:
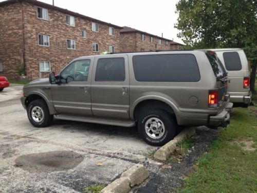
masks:
<instances>
[{"instance_id":1,"label":"concrete parking curb just behind the tan SUV's rear wheel","mask_svg":"<svg viewBox=\"0 0 257 193\"><path fill-rule=\"evenodd\" d=\"M168 142L155 152L155 159L166 161L170 154L173 153L173 151L175 150L177 143L181 142L186 137L191 137L193 134L195 134L195 128L191 127L188 129L184 129L176 137L174 137L172 141Z\"/></svg>"}]
</instances>

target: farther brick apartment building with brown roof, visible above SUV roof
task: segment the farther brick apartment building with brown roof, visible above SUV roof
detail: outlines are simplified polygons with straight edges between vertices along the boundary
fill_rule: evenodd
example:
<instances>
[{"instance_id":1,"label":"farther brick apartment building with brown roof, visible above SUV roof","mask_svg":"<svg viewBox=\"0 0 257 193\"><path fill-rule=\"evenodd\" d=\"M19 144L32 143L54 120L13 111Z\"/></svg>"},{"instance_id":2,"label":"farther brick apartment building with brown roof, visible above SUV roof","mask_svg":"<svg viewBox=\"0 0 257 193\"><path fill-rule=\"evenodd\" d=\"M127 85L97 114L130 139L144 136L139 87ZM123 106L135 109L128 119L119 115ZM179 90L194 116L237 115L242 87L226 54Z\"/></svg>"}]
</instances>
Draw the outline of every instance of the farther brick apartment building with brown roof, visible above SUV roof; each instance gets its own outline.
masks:
<instances>
[{"instance_id":1,"label":"farther brick apartment building with brown roof, visible above SUV roof","mask_svg":"<svg viewBox=\"0 0 257 193\"><path fill-rule=\"evenodd\" d=\"M169 39L124 26L120 30L120 51L170 50Z\"/></svg>"}]
</instances>

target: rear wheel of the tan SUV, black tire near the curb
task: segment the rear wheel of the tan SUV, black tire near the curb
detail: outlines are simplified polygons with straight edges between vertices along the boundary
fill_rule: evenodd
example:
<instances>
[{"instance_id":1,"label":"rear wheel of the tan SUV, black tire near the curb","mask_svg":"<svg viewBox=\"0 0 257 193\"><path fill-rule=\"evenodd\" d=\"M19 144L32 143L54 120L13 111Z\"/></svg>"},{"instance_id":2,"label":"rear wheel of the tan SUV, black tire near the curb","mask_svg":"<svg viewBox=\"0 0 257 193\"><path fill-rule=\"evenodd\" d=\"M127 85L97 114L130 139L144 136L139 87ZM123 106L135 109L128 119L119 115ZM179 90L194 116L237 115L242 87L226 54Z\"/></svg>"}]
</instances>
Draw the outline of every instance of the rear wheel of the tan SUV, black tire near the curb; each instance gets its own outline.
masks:
<instances>
[{"instance_id":1,"label":"rear wheel of the tan SUV, black tire near the curb","mask_svg":"<svg viewBox=\"0 0 257 193\"><path fill-rule=\"evenodd\" d=\"M163 124L164 130L161 129L163 131L162 134L159 134L158 136L153 133L153 135L155 135L154 137L149 136L149 134L151 135L152 130L148 132L149 133L148 134L145 129L146 122L149 122L149 121L154 123L154 124L149 124L150 126L147 126L147 127L152 126L153 127L152 129L154 129L154 125L156 124L161 124L161 125ZM149 109L149 110L141 111L139 113L137 128L141 138L146 143L153 146L162 146L174 138L176 134L177 124L174 116L169 114L168 112L161 109ZM155 137L159 137L159 138L155 138Z\"/></svg>"}]
</instances>

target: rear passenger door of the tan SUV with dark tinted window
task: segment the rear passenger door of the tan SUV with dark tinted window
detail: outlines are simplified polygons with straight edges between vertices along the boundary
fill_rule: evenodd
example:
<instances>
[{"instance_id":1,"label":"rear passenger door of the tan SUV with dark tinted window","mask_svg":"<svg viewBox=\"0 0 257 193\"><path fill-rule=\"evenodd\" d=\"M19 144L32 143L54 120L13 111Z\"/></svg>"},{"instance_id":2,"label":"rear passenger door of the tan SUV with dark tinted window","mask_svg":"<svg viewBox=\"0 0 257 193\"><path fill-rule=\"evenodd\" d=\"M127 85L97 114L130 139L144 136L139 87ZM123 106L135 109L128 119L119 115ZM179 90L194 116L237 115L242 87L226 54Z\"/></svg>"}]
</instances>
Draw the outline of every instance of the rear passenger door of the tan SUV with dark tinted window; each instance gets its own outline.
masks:
<instances>
[{"instance_id":1,"label":"rear passenger door of the tan SUV with dark tinted window","mask_svg":"<svg viewBox=\"0 0 257 193\"><path fill-rule=\"evenodd\" d=\"M130 80L127 55L96 56L91 80L94 116L130 119Z\"/></svg>"}]
</instances>

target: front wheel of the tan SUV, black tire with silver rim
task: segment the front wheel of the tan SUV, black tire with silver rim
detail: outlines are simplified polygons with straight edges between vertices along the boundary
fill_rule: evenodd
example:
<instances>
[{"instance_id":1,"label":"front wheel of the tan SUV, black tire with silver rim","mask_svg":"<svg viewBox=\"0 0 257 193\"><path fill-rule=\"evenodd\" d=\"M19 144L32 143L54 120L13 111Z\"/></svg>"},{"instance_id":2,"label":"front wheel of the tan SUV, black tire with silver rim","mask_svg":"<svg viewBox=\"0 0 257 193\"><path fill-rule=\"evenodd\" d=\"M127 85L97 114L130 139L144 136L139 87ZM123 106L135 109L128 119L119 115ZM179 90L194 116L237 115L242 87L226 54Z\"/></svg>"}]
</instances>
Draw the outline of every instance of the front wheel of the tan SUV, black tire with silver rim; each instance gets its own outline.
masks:
<instances>
[{"instance_id":1,"label":"front wheel of the tan SUV, black tire with silver rim","mask_svg":"<svg viewBox=\"0 0 257 193\"><path fill-rule=\"evenodd\" d=\"M32 111L34 112L34 115ZM36 113L38 113L38 115L36 115ZM47 127L52 124L53 115L50 115L47 104L42 99L36 99L29 103L27 107L27 115L30 123L34 127Z\"/></svg>"}]
</instances>

